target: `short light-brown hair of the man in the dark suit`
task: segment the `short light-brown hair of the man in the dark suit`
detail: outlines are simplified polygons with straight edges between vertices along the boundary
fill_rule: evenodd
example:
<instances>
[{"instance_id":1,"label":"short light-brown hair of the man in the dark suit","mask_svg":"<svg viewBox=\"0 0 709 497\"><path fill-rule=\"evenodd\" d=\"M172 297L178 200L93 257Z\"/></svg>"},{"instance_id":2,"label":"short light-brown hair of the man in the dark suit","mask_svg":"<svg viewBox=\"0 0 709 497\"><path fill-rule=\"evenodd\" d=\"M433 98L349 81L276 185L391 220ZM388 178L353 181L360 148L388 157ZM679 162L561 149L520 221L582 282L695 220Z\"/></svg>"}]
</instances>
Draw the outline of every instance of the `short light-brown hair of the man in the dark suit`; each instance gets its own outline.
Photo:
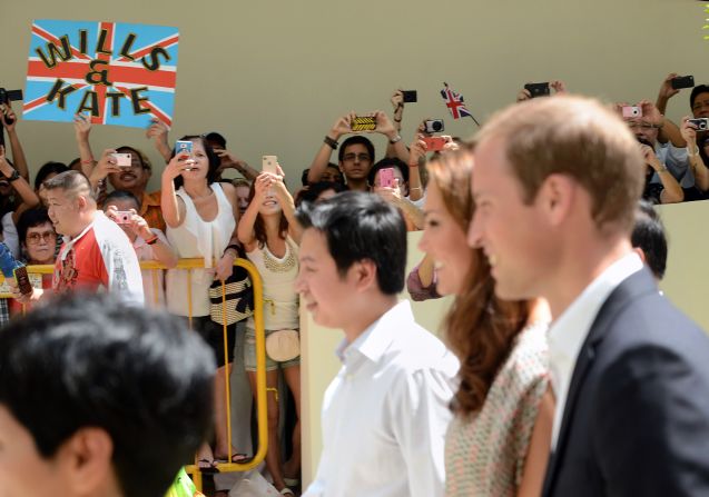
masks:
<instances>
[{"instance_id":1,"label":"short light-brown hair of the man in the dark suit","mask_svg":"<svg viewBox=\"0 0 709 497\"><path fill-rule=\"evenodd\" d=\"M630 232L646 166L638 141L609 108L582 97L532 99L494 115L475 142L495 138L503 139L526 203L550 175L567 175L591 196L599 229Z\"/></svg>"}]
</instances>

